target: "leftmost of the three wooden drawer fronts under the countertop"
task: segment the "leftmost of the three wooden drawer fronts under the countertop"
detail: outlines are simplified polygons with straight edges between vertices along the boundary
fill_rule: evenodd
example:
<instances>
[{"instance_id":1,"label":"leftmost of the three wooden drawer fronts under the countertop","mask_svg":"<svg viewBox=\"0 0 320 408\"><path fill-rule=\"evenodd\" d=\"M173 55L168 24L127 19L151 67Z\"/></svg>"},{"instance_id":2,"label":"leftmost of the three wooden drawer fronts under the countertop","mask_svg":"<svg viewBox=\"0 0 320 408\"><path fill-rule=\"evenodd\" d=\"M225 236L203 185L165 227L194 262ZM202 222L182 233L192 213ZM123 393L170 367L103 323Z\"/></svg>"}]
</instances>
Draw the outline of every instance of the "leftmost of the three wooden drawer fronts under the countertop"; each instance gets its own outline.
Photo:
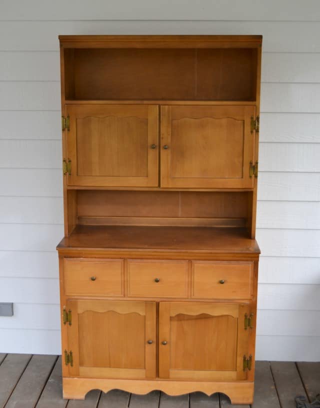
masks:
<instances>
[{"instance_id":1,"label":"leftmost of the three wooden drawer fronts under the countertop","mask_svg":"<svg viewBox=\"0 0 320 408\"><path fill-rule=\"evenodd\" d=\"M66 295L123 296L122 259L64 258Z\"/></svg>"}]
</instances>

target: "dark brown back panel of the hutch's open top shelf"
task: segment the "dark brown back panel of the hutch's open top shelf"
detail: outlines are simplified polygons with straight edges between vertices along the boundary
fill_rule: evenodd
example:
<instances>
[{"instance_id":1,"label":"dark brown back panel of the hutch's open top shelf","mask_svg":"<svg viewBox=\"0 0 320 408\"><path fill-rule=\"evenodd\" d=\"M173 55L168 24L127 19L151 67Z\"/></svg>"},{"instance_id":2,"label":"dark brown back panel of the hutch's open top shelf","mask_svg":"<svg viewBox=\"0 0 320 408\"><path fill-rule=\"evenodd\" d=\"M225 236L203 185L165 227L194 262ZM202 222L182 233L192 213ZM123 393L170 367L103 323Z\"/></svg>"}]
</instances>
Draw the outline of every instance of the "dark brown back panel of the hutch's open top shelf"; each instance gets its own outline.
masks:
<instances>
[{"instance_id":1,"label":"dark brown back panel of the hutch's open top shelf","mask_svg":"<svg viewBox=\"0 0 320 408\"><path fill-rule=\"evenodd\" d=\"M66 99L255 100L253 48L64 51Z\"/></svg>"}]
</instances>

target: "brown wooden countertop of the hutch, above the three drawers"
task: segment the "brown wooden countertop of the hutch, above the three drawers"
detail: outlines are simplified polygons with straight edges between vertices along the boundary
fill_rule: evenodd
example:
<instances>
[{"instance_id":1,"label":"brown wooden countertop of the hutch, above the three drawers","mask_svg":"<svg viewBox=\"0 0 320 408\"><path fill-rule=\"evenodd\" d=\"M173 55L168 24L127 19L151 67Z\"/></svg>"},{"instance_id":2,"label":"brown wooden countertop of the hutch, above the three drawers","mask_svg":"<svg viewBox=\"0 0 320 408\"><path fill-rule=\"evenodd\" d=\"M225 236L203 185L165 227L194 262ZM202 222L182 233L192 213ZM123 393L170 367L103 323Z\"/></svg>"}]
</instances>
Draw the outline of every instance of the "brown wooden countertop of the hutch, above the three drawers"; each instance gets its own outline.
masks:
<instances>
[{"instance_id":1,"label":"brown wooden countertop of the hutch, above the three drawers","mask_svg":"<svg viewBox=\"0 0 320 408\"><path fill-rule=\"evenodd\" d=\"M260 253L245 228L185 226L77 225L57 249Z\"/></svg>"}]
</instances>

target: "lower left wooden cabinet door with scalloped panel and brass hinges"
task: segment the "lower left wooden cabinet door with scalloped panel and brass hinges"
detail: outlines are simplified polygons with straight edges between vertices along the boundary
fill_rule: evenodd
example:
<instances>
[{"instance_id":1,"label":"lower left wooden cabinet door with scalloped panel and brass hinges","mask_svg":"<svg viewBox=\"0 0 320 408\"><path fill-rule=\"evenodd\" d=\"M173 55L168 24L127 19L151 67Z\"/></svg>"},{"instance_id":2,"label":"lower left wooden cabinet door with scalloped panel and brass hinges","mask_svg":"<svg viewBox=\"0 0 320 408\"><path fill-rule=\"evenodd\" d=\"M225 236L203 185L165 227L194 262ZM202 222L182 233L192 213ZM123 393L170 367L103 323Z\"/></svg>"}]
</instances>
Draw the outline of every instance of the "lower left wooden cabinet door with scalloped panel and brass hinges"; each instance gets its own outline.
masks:
<instances>
[{"instance_id":1,"label":"lower left wooden cabinet door with scalloped panel and brass hinges","mask_svg":"<svg viewBox=\"0 0 320 408\"><path fill-rule=\"evenodd\" d=\"M155 377L155 302L69 300L67 309L70 376Z\"/></svg>"}]
</instances>

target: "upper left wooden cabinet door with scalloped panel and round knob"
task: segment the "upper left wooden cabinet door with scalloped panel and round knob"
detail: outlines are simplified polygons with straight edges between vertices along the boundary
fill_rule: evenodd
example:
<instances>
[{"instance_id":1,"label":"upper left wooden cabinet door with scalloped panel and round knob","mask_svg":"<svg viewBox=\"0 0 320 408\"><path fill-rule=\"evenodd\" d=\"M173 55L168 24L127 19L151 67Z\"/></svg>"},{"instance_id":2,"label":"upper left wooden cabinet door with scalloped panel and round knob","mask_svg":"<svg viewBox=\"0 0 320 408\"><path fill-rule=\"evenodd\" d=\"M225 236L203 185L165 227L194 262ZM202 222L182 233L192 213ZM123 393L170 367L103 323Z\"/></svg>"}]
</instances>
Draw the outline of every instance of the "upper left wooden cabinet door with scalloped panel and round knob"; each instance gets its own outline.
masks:
<instances>
[{"instance_id":1,"label":"upper left wooden cabinet door with scalloped panel and round knob","mask_svg":"<svg viewBox=\"0 0 320 408\"><path fill-rule=\"evenodd\" d=\"M158 185L158 106L66 105L67 184Z\"/></svg>"}]
</instances>

